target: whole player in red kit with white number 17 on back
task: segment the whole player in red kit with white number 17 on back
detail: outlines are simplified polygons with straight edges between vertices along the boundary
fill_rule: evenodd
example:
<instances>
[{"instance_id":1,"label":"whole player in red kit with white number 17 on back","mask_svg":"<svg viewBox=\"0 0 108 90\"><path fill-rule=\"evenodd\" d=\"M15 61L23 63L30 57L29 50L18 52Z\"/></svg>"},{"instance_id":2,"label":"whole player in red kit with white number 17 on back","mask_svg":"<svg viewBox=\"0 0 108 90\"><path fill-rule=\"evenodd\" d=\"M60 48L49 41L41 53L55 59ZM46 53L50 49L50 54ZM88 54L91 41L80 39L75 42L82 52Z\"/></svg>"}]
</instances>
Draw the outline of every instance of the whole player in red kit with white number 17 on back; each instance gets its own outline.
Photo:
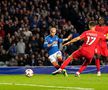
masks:
<instances>
[{"instance_id":1,"label":"whole player in red kit with white number 17 on back","mask_svg":"<svg viewBox=\"0 0 108 90\"><path fill-rule=\"evenodd\" d=\"M76 42L78 40L84 40L84 43L81 48L73 52L61 65L61 67L54 71L52 74L58 74L60 73L73 59L78 59L80 57L86 58L86 65L82 65L83 68L80 69L80 71L77 73L77 76L86 68L86 66L91 62L94 53L96 45L99 43L100 40L105 40L104 34L101 34L100 32L95 31L96 24L95 22L89 23L90 30L83 32L80 36L72 39L71 41L65 43L65 45L69 45L70 43ZM85 66L85 67L84 67Z\"/></svg>"}]
</instances>

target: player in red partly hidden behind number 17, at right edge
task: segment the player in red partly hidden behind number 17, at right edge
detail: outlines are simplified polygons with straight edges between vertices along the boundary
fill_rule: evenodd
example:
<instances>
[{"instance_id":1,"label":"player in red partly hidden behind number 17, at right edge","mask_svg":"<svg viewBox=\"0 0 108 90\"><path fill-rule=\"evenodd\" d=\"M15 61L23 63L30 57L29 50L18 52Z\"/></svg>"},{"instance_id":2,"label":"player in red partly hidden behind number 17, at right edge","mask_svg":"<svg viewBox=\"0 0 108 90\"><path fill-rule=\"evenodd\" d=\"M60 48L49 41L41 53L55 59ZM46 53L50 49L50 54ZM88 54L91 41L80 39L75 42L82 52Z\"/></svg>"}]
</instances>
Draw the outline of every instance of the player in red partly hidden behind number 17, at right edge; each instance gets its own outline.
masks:
<instances>
[{"instance_id":1,"label":"player in red partly hidden behind number 17, at right edge","mask_svg":"<svg viewBox=\"0 0 108 90\"><path fill-rule=\"evenodd\" d=\"M108 33L108 26L105 25L105 20L103 17L99 18L99 25L96 25L96 31L103 33L104 35L107 35ZM107 47L107 41L103 40L100 41L95 49L95 64L97 67L97 76L101 76L100 72L100 55L106 57L106 60L108 60L108 47Z\"/></svg>"}]
</instances>

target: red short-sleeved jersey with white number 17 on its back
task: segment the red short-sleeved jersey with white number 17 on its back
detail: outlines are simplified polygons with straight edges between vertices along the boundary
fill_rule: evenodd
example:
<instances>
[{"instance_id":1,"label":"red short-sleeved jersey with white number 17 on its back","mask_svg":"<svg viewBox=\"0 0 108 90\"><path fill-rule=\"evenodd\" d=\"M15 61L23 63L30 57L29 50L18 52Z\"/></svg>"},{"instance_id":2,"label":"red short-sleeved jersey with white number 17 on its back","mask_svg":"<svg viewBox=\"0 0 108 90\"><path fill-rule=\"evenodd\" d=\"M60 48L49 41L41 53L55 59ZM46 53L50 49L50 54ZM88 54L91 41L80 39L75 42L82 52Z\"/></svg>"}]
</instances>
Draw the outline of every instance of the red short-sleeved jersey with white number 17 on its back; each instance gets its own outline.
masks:
<instances>
[{"instance_id":1,"label":"red short-sleeved jersey with white number 17 on its back","mask_svg":"<svg viewBox=\"0 0 108 90\"><path fill-rule=\"evenodd\" d=\"M97 31L88 30L80 35L84 39L82 48L93 51L100 40L106 40L105 36ZM92 50L91 50L92 49Z\"/></svg>"}]
</instances>

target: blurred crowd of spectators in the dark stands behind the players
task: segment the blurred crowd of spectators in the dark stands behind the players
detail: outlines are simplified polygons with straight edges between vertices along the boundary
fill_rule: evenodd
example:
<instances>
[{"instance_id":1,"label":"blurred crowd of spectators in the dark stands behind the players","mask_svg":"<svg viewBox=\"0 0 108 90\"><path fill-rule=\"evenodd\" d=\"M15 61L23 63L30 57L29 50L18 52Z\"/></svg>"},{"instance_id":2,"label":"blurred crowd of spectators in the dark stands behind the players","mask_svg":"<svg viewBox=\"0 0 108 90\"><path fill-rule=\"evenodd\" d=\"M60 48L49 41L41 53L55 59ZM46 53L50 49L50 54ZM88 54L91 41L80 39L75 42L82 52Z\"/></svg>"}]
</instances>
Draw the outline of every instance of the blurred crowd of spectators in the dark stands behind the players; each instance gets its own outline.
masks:
<instances>
[{"instance_id":1,"label":"blurred crowd of spectators in the dark stands behind the players","mask_svg":"<svg viewBox=\"0 0 108 90\"><path fill-rule=\"evenodd\" d=\"M60 38L74 38L101 16L108 24L107 0L0 0L0 66L50 66L43 48L50 27ZM80 43L60 46L63 58Z\"/></svg>"}]
</instances>

